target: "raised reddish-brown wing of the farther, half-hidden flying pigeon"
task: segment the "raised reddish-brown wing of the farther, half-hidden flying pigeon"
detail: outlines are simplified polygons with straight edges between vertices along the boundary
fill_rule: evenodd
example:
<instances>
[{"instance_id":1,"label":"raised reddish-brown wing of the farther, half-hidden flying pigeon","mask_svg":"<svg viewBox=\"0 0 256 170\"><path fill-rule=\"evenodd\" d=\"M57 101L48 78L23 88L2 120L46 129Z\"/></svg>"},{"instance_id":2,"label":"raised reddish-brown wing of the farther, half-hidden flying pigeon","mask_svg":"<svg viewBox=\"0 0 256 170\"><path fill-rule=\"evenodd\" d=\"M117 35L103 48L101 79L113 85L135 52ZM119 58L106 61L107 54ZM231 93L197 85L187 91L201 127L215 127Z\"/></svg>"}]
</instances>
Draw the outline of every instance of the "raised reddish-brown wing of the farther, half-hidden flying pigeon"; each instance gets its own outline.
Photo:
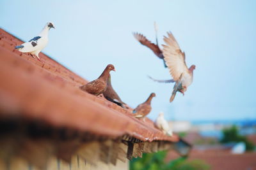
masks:
<instances>
[{"instance_id":1,"label":"raised reddish-brown wing of the farther, half-hidden flying pigeon","mask_svg":"<svg viewBox=\"0 0 256 170\"><path fill-rule=\"evenodd\" d=\"M158 45L155 45L154 43L151 43L150 41L148 41L148 39L145 36L143 36L143 34L139 34L137 32L134 32L133 36L138 41L140 41L140 43L142 45L145 45L148 48L150 48L157 55L157 57L159 57L160 59L163 59L163 53L162 53L162 51L161 51L161 49L159 48Z\"/></svg>"}]
</instances>

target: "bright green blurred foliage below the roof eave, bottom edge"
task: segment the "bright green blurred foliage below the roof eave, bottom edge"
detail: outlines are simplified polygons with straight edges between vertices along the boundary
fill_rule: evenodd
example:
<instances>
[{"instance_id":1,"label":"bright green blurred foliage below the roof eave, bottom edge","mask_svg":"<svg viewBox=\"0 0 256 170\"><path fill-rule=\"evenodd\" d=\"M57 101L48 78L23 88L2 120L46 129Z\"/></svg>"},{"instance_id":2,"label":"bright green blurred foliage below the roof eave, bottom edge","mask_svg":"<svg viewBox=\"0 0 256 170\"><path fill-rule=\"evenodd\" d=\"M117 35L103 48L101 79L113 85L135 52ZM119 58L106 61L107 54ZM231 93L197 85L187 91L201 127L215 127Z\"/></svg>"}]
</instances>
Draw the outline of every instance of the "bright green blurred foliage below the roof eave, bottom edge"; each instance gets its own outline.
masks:
<instances>
[{"instance_id":1,"label":"bright green blurred foliage below the roof eave, bottom edge","mask_svg":"<svg viewBox=\"0 0 256 170\"><path fill-rule=\"evenodd\" d=\"M131 170L207 170L209 166L202 160L186 160L184 157L165 162L166 151L157 153L144 153L142 158L132 159Z\"/></svg>"}]
</instances>

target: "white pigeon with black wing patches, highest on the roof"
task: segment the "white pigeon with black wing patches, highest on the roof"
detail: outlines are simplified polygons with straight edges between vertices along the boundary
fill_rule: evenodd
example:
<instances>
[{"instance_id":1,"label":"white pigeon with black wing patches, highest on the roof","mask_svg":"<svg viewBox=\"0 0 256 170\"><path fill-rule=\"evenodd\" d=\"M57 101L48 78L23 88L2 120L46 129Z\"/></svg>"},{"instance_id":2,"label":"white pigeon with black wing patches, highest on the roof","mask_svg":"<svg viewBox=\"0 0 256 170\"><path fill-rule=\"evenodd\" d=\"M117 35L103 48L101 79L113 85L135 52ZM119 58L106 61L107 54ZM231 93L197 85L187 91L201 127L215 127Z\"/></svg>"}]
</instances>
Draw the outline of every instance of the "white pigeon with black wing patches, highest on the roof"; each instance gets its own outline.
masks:
<instances>
[{"instance_id":1,"label":"white pigeon with black wing patches, highest on the roof","mask_svg":"<svg viewBox=\"0 0 256 170\"><path fill-rule=\"evenodd\" d=\"M15 49L19 50L22 53L30 53L30 55L34 57L34 55L39 58L39 53L45 48L45 46L48 43L48 32L51 28L54 28L54 25L52 22L47 22L44 29L38 34L38 36L35 36L34 38L30 39L28 42L23 43L22 45L15 46Z\"/></svg>"}]
</instances>

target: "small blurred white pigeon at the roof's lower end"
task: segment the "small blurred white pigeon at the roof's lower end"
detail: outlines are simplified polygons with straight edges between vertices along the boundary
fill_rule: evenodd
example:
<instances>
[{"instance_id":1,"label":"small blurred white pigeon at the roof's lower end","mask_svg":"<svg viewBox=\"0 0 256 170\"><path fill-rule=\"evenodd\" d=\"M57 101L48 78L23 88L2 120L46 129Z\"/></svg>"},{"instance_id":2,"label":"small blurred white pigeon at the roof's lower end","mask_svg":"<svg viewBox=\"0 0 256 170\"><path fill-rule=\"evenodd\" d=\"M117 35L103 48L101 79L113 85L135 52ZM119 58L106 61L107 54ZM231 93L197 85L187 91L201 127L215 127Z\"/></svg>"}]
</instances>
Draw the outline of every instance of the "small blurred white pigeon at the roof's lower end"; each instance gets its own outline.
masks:
<instances>
[{"instance_id":1,"label":"small blurred white pigeon at the roof's lower end","mask_svg":"<svg viewBox=\"0 0 256 170\"><path fill-rule=\"evenodd\" d=\"M168 122L164 119L164 113L159 113L158 117L156 118L155 125L158 129L160 129L164 134L168 136L172 136L172 129L170 128Z\"/></svg>"}]
</instances>

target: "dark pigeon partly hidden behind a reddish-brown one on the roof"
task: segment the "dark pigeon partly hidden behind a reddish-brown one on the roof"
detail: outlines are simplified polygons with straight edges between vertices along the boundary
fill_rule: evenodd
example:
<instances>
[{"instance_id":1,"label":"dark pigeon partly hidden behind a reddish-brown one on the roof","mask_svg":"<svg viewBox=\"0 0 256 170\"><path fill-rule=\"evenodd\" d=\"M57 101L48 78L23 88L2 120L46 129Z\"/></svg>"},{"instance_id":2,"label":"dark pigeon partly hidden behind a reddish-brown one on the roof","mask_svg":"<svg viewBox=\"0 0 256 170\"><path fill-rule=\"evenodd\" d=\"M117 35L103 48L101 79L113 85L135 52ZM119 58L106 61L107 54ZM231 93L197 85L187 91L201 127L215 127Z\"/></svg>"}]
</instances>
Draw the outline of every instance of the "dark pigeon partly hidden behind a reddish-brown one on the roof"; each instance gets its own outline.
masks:
<instances>
[{"instance_id":1,"label":"dark pigeon partly hidden behind a reddish-brown one on the roof","mask_svg":"<svg viewBox=\"0 0 256 170\"><path fill-rule=\"evenodd\" d=\"M111 102L121 106L122 108L126 108L125 103L120 99L118 94L116 94L115 90L113 89L113 87L111 85L111 76L110 75L108 77L107 89L105 92L103 92L103 96L108 101L111 101Z\"/></svg>"}]
</instances>

